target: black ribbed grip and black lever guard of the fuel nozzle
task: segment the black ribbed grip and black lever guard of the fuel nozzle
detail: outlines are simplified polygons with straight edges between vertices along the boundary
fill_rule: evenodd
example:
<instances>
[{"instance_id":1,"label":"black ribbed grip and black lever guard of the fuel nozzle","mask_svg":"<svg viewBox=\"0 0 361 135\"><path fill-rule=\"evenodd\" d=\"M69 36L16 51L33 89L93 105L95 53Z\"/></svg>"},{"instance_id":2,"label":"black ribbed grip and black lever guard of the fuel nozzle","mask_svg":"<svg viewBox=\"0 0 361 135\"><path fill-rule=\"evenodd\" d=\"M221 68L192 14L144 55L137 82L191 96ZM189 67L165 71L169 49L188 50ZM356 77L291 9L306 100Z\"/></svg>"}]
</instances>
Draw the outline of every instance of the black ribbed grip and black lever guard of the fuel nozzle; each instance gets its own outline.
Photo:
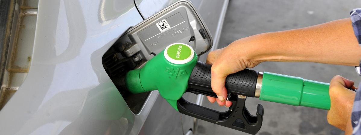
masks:
<instances>
[{"instance_id":1,"label":"black ribbed grip and black lever guard of the fuel nozzle","mask_svg":"<svg viewBox=\"0 0 361 135\"><path fill-rule=\"evenodd\" d=\"M188 80L187 92L217 97L210 84L211 65L198 61ZM256 116L251 115L245 107L246 96L254 97L258 72L243 70L226 78L228 92L227 100L232 106L226 112L218 112L197 104L190 103L183 98L177 102L179 112L212 122L231 129L256 134L262 126L263 106L258 104Z\"/></svg>"}]
</instances>

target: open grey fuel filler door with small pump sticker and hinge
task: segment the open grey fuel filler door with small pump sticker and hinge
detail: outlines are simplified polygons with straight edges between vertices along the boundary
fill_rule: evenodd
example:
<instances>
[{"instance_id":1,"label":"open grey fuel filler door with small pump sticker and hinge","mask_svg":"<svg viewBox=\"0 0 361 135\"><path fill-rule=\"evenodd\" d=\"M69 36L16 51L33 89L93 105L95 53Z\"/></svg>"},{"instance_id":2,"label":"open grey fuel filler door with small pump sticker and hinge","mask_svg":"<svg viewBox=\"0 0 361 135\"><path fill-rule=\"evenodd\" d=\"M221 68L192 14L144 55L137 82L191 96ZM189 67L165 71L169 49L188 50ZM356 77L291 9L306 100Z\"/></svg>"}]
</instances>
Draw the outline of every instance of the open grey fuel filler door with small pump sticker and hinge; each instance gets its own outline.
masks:
<instances>
[{"instance_id":1,"label":"open grey fuel filler door with small pump sticker and hinge","mask_svg":"<svg viewBox=\"0 0 361 135\"><path fill-rule=\"evenodd\" d=\"M172 43L186 43L201 55L212 47L212 37L195 7L178 1L132 27L117 41L125 57L150 60Z\"/></svg>"}]
</instances>

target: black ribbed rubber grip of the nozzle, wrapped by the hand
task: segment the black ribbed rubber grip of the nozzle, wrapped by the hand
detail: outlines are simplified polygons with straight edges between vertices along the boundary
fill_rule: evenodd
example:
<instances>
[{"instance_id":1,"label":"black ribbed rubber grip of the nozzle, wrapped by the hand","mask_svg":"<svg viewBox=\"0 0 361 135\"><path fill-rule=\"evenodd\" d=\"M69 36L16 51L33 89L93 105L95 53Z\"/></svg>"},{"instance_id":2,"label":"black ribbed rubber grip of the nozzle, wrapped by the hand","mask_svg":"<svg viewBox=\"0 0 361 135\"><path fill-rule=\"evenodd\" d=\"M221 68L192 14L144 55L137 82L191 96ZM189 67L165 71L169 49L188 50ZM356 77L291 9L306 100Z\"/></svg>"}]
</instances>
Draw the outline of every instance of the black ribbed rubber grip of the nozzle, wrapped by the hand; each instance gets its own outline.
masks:
<instances>
[{"instance_id":1,"label":"black ribbed rubber grip of the nozzle, wrapped by the hand","mask_svg":"<svg viewBox=\"0 0 361 135\"><path fill-rule=\"evenodd\" d=\"M195 94L204 94L206 96L216 97L210 85L211 65L198 61L188 80L189 92ZM247 97L255 97L258 72L245 69L226 78L226 88L228 93L241 94Z\"/></svg>"}]
</instances>

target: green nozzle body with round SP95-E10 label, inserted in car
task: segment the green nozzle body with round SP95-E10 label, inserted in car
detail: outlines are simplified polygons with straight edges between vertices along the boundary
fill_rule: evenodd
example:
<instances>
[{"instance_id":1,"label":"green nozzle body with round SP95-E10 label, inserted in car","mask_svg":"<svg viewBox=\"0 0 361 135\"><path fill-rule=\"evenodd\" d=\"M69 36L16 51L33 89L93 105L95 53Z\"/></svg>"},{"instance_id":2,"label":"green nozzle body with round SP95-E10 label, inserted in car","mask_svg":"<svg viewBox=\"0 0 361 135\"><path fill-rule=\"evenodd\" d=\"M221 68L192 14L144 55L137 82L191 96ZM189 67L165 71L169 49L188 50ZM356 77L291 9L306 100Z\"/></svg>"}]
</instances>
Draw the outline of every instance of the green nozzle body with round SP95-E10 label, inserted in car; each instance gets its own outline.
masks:
<instances>
[{"instance_id":1,"label":"green nozzle body with round SP95-E10 label, inserted in car","mask_svg":"<svg viewBox=\"0 0 361 135\"><path fill-rule=\"evenodd\" d=\"M132 93L158 90L178 111L177 101L188 88L188 79L197 64L192 47L174 43L147 62L141 69L126 74L125 85Z\"/></svg>"}]
</instances>

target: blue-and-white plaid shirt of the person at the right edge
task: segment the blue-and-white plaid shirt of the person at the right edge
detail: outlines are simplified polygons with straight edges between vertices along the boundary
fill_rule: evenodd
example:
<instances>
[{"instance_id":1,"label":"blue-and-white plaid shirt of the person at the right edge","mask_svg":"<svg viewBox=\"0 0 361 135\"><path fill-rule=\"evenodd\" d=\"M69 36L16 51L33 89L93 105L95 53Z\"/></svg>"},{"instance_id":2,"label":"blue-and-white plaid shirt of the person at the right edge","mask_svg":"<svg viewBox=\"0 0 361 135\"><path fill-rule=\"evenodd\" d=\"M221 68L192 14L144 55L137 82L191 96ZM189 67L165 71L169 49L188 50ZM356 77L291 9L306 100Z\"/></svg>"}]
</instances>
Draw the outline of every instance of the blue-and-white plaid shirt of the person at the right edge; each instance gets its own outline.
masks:
<instances>
[{"instance_id":1,"label":"blue-and-white plaid shirt of the person at the right edge","mask_svg":"<svg viewBox=\"0 0 361 135\"><path fill-rule=\"evenodd\" d=\"M357 38L358 44L361 45L361 8L353 9L351 11L351 21L352 21L353 31L355 32L355 36ZM361 60L360 60L360 65L355 68L358 75L361 76L360 66L361 66ZM351 113L351 124L353 127L353 132L352 132L353 135L361 135L361 130L360 130L360 126L361 126L361 92L360 92L361 82L358 86L359 87L358 87L358 90L356 93L355 101L353 102L353 108L352 108L352 113Z\"/></svg>"}]
</instances>

